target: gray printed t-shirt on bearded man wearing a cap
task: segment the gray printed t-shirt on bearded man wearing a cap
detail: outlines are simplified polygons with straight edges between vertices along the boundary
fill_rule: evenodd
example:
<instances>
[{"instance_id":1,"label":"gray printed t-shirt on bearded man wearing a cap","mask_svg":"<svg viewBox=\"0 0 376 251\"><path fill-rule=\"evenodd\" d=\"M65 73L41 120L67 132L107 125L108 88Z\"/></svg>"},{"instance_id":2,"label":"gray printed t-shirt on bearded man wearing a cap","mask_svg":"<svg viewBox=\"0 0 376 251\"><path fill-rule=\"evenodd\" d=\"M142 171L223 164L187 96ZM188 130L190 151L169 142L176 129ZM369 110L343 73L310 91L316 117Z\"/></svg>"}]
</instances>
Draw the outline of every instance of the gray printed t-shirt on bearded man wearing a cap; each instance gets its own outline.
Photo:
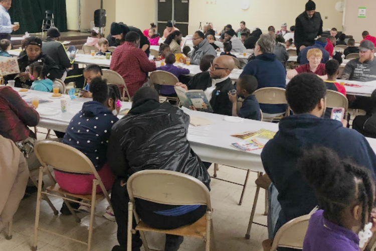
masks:
<instances>
[{"instance_id":1,"label":"gray printed t-shirt on bearded man wearing a cap","mask_svg":"<svg viewBox=\"0 0 376 251\"><path fill-rule=\"evenodd\" d=\"M376 80L376 57L364 63L359 63L359 59L350 60L343 69L341 79L360 82Z\"/></svg>"}]
</instances>

